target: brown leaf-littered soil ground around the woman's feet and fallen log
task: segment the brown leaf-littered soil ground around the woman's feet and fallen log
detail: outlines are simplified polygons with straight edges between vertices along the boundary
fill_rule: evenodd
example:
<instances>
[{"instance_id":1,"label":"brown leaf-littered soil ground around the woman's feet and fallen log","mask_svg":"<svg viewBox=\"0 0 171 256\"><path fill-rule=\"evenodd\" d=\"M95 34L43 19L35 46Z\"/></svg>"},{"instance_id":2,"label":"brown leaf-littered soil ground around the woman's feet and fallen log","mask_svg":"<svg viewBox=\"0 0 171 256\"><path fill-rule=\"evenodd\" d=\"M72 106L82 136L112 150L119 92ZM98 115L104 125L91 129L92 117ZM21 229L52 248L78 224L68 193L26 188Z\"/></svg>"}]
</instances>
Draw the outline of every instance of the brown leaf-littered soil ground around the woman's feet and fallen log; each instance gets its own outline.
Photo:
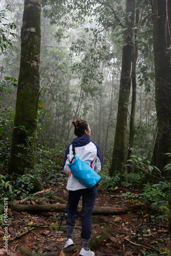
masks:
<instances>
[{"instance_id":1,"label":"brown leaf-littered soil ground around the woman's feet and fallen log","mask_svg":"<svg viewBox=\"0 0 171 256\"><path fill-rule=\"evenodd\" d=\"M62 188L53 188L56 196L67 200L68 191ZM130 190L129 190L130 191ZM137 193L137 190L132 190ZM98 192L95 206L101 207L129 207L136 204L133 200L126 201L121 195L126 193L123 189L116 189L112 194L100 194ZM26 204L47 204L56 203L52 199L48 199L42 195L40 201L27 201ZM81 205L81 201L80 201ZM66 214L67 216L67 214ZM66 216L62 225L66 224ZM62 214L53 212L42 213L40 215L32 215L28 212L15 212L8 209L8 252L4 253L5 241L1 239L0 255L22 256L26 255L18 250L18 245L26 249L36 252L45 253L46 255L79 255L81 249L81 218L78 216L76 228L74 231L74 246L71 246L70 252L62 248L66 243L66 230L60 229L59 234L56 230L50 230L49 226L53 223L60 224ZM111 220L113 228L110 230L110 238L103 239L97 248L94 248L96 256L125 256L125 255L167 255L168 253L168 226L166 222L157 223L153 221L152 214L148 207L142 207L141 210L128 211L125 214L117 216L93 216L92 218L92 239L100 239L101 232ZM24 233L33 225L34 229L29 230L23 236L18 237L17 234ZM35 226L36 225L36 226ZM0 226L1 237L4 237L4 228ZM58 253L57 253L58 252ZM56 254L55 254L56 253ZM44 255L45 255L44 254Z\"/></svg>"}]
</instances>

